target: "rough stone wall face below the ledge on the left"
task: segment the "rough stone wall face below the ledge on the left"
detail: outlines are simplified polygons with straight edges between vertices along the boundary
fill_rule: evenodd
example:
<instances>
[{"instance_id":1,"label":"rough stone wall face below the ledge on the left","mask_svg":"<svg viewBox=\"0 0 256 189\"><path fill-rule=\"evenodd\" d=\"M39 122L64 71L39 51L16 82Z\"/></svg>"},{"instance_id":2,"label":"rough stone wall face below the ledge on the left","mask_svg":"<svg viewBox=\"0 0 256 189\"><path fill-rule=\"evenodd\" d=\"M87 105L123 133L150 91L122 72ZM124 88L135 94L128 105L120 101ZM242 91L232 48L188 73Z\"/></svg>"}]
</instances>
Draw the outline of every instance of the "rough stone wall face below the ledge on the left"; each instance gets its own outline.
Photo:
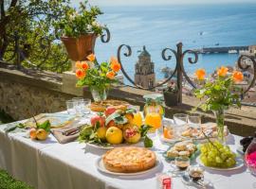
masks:
<instances>
[{"instance_id":1,"label":"rough stone wall face below the ledge on the left","mask_svg":"<svg viewBox=\"0 0 256 189\"><path fill-rule=\"evenodd\" d=\"M65 100L70 96L7 80L0 81L0 107L15 120L41 112L65 110Z\"/></svg>"}]
</instances>

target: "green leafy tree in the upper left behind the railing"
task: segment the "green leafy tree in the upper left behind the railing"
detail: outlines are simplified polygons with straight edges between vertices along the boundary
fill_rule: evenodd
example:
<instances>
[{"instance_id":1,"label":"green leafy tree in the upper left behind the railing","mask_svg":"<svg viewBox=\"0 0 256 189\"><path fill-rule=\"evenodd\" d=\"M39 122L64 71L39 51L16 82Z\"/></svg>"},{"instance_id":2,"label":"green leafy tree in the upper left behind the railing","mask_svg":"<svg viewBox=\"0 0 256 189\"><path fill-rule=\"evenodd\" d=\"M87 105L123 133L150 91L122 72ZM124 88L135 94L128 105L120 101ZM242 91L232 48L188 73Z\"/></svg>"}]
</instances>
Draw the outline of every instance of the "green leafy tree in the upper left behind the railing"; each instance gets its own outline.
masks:
<instances>
[{"instance_id":1,"label":"green leafy tree in the upper left behind the railing","mask_svg":"<svg viewBox=\"0 0 256 189\"><path fill-rule=\"evenodd\" d=\"M0 60L15 61L17 33L23 65L56 72L69 69L54 27L72 10L69 5L69 0L0 0Z\"/></svg>"}]
</instances>

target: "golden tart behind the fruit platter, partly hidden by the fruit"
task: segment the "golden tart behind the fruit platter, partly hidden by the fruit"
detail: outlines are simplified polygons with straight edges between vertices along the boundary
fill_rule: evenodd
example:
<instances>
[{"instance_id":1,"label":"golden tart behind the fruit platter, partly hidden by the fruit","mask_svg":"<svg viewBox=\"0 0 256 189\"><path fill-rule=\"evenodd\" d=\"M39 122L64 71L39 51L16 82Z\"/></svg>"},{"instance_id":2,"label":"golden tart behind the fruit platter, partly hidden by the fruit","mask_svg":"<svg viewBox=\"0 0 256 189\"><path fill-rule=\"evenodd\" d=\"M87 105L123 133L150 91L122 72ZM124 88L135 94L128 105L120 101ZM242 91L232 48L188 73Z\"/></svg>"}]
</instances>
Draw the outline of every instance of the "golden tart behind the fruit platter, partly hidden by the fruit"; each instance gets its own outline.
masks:
<instances>
[{"instance_id":1,"label":"golden tart behind the fruit platter, partly hidden by the fruit","mask_svg":"<svg viewBox=\"0 0 256 189\"><path fill-rule=\"evenodd\" d=\"M91 104L91 111L104 112L108 107L114 107L117 110L126 111L128 106L130 106L128 102L121 100L103 100L101 102L93 102Z\"/></svg>"}]
</instances>

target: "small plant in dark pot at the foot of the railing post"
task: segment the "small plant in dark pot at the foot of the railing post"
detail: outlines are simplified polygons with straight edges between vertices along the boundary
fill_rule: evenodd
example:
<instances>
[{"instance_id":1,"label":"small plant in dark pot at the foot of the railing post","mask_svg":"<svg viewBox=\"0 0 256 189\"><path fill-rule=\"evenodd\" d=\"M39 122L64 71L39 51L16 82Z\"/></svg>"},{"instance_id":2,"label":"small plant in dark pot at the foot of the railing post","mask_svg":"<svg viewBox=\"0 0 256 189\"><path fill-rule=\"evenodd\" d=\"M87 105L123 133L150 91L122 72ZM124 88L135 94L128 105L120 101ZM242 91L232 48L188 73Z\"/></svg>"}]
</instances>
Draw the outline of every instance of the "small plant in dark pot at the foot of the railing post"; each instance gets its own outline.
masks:
<instances>
[{"instance_id":1,"label":"small plant in dark pot at the foot of the railing post","mask_svg":"<svg viewBox=\"0 0 256 189\"><path fill-rule=\"evenodd\" d=\"M178 89L174 82L167 87L166 90L163 92L164 94L164 101L166 106L177 106L178 102Z\"/></svg>"}]
</instances>

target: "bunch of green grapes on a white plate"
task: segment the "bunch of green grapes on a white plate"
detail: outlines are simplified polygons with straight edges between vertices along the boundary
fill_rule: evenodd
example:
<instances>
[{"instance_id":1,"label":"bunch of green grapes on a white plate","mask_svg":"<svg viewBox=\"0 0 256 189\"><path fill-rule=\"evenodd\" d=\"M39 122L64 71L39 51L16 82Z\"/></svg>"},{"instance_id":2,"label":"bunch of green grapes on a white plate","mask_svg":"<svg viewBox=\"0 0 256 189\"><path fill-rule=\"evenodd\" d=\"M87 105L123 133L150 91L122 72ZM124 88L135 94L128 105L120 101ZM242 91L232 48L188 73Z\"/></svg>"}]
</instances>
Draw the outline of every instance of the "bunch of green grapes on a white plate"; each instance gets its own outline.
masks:
<instances>
[{"instance_id":1,"label":"bunch of green grapes on a white plate","mask_svg":"<svg viewBox=\"0 0 256 189\"><path fill-rule=\"evenodd\" d=\"M235 153L229 146L223 146L221 143L209 142L200 146L200 160L206 166L229 168L235 165Z\"/></svg>"}]
</instances>

